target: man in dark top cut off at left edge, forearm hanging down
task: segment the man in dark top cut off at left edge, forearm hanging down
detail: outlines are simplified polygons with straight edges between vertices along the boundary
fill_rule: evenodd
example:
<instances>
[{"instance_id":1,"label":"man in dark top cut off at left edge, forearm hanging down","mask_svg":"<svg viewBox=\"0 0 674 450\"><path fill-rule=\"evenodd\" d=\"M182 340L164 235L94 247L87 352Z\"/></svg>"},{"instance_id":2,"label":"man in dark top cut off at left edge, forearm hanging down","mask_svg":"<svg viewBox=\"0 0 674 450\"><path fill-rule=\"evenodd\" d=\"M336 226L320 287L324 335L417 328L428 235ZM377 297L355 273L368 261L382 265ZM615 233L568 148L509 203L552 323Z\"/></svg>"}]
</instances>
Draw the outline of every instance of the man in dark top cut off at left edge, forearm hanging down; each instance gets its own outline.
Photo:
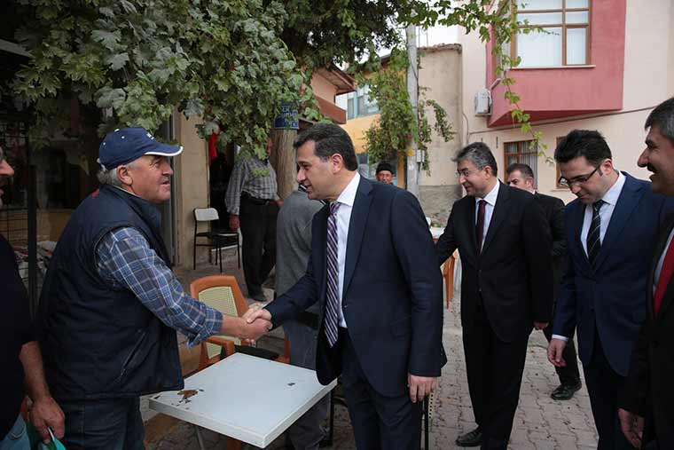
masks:
<instances>
[{"instance_id":1,"label":"man in dark top cut off at left edge, forearm hanging down","mask_svg":"<svg viewBox=\"0 0 674 450\"><path fill-rule=\"evenodd\" d=\"M0 147L0 187L12 177L14 170ZM0 196L3 190L0 189ZM0 208L3 206L0 198ZM0 234L0 286L3 295L0 304L4 324L0 327L0 450L27 450L29 448L26 423L19 411L25 391L33 400L30 420L44 442L50 441L51 428L57 438L63 437L63 412L51 398L44 371L40 347L35 341L28 311L28 296L16 264L14 250ZM25 391L24 391L25 386Z\"/></svg>"}]
</instances>

